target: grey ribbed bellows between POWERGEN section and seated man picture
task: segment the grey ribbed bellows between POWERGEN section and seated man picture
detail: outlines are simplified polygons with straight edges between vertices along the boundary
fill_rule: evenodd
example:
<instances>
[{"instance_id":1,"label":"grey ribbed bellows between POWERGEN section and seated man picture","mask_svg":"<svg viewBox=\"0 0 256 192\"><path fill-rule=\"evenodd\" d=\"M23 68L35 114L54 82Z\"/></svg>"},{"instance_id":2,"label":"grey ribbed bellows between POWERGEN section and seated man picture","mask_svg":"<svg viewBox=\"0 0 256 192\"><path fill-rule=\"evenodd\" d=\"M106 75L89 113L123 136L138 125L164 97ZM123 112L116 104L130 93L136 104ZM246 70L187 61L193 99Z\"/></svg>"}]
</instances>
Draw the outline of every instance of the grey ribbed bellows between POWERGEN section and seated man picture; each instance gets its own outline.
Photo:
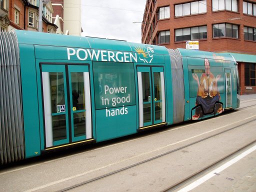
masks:
<instances>
[{"instance_id":1,"label":"grey ribbed bellows between POWERGEN section and seated man picture","mask_svg":"<svg viewBox=\"0 0 256 192\"><path fill-rule=\"evenodd\" d=\"M171 59L173 123L184 120L184 76L182 58L177 49L168 49Z\"/></svg>"}]
</instances>

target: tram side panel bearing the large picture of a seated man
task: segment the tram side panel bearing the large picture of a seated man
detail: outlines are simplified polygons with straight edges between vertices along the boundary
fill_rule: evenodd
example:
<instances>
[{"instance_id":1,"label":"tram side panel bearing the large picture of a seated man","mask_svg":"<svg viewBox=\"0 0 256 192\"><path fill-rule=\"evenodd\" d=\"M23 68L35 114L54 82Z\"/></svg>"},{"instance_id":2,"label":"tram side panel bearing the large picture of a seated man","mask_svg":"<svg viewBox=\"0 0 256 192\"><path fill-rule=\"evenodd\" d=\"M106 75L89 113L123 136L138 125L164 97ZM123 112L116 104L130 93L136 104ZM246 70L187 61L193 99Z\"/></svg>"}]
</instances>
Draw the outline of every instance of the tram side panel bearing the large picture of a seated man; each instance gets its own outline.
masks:
<instances>
[{"instance_id":1,"label":"tram side panel bearing the large picture of a seated man","mask_svg":"<svg viewBox=\"0 0 256 192\"><path fill-rule=\"evenodd\" d=\"M221 60L187 57L187 63L191 119L221 113L225 99Z\"/></svg>"}]
</instances>

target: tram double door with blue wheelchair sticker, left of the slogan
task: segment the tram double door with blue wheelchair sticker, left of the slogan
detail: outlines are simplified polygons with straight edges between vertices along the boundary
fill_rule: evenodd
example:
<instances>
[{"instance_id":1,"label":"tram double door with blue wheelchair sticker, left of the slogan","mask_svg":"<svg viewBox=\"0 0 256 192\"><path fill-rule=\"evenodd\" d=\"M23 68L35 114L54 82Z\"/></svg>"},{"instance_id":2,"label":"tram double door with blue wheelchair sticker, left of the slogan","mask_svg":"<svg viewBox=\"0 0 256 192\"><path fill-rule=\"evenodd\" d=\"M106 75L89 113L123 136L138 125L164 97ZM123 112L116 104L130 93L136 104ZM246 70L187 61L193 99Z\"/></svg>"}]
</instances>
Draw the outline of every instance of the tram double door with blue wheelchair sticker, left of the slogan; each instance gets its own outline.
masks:
<instances>
[{"instance_id":1,"label":"tram double door with blue wheelchair sticker, left of the slogan","mask_svg":"<svg viewBox=\"0 0 256 192\"><path fill-rule=\"evenodd\" d=\"M87 65L41 65L45 146L92 137Z\"/></svg>"}]
</instances>

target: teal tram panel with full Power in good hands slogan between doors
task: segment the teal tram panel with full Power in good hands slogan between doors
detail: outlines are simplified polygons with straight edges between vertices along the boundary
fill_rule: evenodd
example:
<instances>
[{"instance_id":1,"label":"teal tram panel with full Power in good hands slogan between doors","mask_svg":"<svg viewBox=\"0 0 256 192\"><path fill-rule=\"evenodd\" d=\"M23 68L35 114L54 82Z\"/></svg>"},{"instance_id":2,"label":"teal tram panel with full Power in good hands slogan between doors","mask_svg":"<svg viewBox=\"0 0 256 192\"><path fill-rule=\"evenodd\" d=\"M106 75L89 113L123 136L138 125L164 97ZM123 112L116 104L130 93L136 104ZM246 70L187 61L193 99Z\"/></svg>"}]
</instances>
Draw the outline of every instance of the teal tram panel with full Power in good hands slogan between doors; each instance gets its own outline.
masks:
<instances>
[{"instance_id":1,"label":"teal tram panel with full Power in good hands slogan between doors","mask_svg":"<svg viewBox=\"0 0 256 192\"><path fill-rule=\"evenodd\" d=\"M97 141L135 133L133 63L93 61L93 80Z\"/></svg>"}]
</instances>

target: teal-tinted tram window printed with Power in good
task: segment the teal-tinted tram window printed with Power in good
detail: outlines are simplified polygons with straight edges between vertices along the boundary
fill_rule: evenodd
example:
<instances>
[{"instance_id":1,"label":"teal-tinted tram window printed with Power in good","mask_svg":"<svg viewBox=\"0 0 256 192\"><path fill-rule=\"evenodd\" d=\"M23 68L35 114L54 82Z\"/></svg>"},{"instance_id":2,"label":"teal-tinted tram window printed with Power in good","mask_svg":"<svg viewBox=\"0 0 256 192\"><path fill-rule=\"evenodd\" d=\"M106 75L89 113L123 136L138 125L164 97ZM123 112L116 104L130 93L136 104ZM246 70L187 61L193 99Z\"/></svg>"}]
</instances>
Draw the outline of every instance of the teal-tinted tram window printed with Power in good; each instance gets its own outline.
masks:
<instances>
[{"instance_id":1,"label":"teal-tinted tram window printed with Power in good","mask_svg":"<svg viewBox=\"0 0 256 192\"><path fill-rule=\"evenodd\" d=\"M96 109L135 104L133 63L94 62Z\"/></svg>"}]
</instances>

